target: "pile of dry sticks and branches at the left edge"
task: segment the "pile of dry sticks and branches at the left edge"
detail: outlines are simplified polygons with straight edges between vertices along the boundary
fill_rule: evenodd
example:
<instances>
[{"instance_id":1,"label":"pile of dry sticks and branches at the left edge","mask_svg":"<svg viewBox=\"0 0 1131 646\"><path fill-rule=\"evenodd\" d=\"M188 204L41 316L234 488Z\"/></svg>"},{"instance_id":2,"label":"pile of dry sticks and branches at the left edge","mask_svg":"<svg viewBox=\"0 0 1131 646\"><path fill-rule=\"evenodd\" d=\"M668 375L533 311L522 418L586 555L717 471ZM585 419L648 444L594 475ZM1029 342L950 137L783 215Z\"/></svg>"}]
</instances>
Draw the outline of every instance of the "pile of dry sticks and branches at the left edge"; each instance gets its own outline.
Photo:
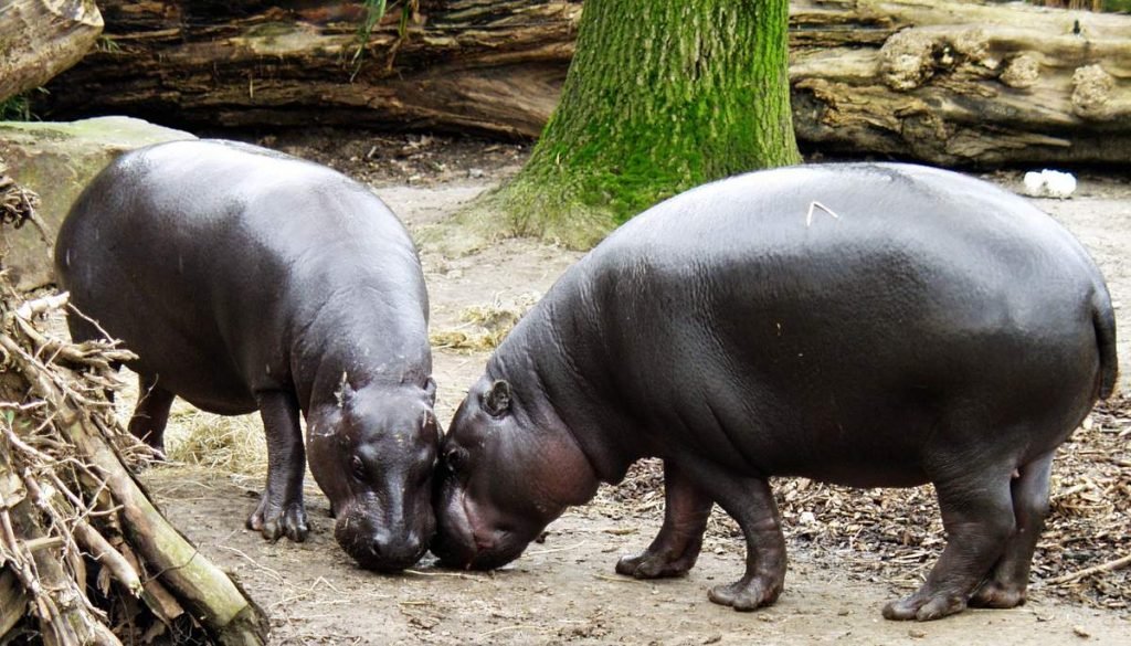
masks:
<instances>
[{"instance_id":1,"label":"pile of dry sticks and branches at the left edge","mask_svg":"<svg viewBox=\"0 0 1131 646\"><path fill-rule=\"evenodd\" d=\"M34 204L0 164L2 226ZM25 301L0 272L0 641L265 644L262 611L130 472L153 458L113 414L131 354L43 331L66 302Z\"/></svg>"}]
</instances>

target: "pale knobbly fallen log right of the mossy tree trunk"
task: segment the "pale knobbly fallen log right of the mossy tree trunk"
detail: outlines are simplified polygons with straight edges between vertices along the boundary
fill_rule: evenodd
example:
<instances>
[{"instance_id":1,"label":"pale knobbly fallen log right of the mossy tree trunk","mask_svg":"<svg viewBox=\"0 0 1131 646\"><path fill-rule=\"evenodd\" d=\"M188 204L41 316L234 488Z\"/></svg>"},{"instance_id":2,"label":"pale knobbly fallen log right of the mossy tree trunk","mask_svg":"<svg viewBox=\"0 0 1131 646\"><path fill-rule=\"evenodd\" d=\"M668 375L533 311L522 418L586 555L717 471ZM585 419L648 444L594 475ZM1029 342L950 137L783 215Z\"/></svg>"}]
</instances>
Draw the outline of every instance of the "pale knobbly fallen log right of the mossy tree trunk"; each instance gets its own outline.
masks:
<instances>
[{"instance_id":1,"label":"pale knobbly fallen log right of the mossy tree trunk","mask_svg":"<svg viewBox=\"0 0 1131 646\"><path fill-rule=\"evenodd\" d=\"M940 165L1131 163L1131 17L795 0L797 136Z\"/></svg>"}]
</instances>

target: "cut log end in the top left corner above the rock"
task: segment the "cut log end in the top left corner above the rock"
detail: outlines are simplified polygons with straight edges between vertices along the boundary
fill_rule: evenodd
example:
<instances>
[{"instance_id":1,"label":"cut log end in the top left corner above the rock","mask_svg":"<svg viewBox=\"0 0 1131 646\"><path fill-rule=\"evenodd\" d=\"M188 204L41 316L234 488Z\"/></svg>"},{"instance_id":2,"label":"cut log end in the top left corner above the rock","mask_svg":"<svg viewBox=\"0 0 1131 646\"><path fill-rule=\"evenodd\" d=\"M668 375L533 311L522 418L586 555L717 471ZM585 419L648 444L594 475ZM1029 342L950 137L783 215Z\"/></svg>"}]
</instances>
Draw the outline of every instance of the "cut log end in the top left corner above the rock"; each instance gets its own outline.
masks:
<instances>
[{"instance_id":1,"label":"cut log end in the top left corner above the rock","mask_svg":"<svg viewBox=\"0 0 1131 646\"><path fill-rule=\"evenodd\" d=\"M102 33L92 0L0 3L0 102L40 87L71 67Z\"/></svg>"}]
</instances>

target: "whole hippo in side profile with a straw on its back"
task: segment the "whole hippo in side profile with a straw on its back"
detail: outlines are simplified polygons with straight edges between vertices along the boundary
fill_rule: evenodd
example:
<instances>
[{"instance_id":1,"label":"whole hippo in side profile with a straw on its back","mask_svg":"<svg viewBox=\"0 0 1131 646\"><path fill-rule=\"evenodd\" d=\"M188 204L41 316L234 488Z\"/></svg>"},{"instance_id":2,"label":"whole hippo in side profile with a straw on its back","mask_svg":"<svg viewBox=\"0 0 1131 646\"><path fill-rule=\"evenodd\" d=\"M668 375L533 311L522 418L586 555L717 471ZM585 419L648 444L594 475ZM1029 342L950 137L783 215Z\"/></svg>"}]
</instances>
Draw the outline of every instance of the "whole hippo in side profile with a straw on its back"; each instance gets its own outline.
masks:
<instances>
[{"instance_id":1,"label":"whole hippo in side profile with a straw on its back","mask_svg":"<svg viewBox=\"0 0 1131 646\"><path fill-rule=\"evenodd\" d=\"M753 610L785 580L769 476L931 482L947 548L884 617L1015 606L1053 453L1115 384L1114 325L1080 244L985 182L845 164L707 184L614 232L491 356L441 445L432 551L502 566L658 456L664 524L620 574L687 572L717 502L746 571L709 596Z\"/></svg>"}]
</instances>

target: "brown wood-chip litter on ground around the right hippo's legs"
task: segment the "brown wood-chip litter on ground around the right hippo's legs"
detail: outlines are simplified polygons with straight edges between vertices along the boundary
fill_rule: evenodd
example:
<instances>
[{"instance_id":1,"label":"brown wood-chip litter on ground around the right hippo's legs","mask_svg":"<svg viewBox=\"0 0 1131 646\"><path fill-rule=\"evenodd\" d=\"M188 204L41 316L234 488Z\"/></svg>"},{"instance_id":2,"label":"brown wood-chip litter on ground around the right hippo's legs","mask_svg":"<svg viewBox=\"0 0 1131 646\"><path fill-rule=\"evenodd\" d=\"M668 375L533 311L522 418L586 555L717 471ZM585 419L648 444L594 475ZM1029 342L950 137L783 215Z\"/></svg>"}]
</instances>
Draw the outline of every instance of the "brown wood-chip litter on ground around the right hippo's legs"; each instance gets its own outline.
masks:
<instances>
[{"instance_id":1,"label":"brown wood-chip litter on ground around the right hippo's legs","mask_svg":"<svg viewBox=\"0 0 1131 646\"><path fill-rule=\"evenodd\" d=\"M612 518L662 517L663 465L641 460L590 503ZM934 489L853 489L803 477L771 485L791 555L846 568L851 576L918 587L946 545ZM744 553L742 531L718 507L705 551ZM1131 612L1131 396L1100 403L1053 460L1051 510L1029 589L1104 610Z\"/></svg>"}]
</instances>

